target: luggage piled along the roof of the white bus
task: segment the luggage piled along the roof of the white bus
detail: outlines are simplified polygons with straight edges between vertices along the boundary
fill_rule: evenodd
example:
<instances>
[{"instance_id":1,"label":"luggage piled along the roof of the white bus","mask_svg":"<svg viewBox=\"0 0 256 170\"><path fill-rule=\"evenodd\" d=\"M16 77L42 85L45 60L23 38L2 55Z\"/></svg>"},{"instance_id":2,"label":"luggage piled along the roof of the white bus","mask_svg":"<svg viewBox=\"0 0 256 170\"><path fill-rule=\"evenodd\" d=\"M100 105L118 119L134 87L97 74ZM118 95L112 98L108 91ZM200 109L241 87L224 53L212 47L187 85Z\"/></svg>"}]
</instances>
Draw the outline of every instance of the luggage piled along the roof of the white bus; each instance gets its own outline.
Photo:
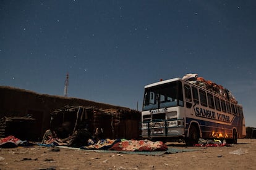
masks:
<instances>
[{"instance_id":1,"label":"luggage piled along the roof of the white bus","mask_svg":"<svg viewBox=\"0 0 256 170\"><path fill-rule=\"evenodd\" d=\"M187 74L183 76L184 80L189 81L190 83L196 84L197 86L208 89L215 94L221 95L225 99L228 99L230 102L237 103L234 95L228 89L224 88L220 84L216 84L210 80L205 80L202 77L198 77L198 74Z\"/></svg>"}]
</instances>

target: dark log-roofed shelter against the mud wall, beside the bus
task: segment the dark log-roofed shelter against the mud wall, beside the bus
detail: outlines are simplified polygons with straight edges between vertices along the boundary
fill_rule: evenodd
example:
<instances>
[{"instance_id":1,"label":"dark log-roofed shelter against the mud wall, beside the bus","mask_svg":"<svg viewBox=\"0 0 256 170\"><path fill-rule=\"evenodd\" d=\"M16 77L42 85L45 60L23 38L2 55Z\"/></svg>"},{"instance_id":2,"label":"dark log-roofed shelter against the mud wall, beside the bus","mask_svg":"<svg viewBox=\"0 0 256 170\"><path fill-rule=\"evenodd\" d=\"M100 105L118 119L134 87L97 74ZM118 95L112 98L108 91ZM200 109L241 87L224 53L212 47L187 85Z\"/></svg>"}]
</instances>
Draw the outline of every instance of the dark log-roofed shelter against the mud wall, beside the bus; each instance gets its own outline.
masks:
<instances>
[{"instance_id":1,"label":"dark log-roofed shelter against the mud wall, beside the bus","mask_svg":"<svg viewBox=\"0 0 256 170\"><path fill-rule=\"evenodd\" d=\"M51 113L51 129L64 139L77 129L87 128L90 134L103 129L101 139L139 139L140 112L122 109L99 109L95 107L60 108Z\"/></svg>"}]
</instances>

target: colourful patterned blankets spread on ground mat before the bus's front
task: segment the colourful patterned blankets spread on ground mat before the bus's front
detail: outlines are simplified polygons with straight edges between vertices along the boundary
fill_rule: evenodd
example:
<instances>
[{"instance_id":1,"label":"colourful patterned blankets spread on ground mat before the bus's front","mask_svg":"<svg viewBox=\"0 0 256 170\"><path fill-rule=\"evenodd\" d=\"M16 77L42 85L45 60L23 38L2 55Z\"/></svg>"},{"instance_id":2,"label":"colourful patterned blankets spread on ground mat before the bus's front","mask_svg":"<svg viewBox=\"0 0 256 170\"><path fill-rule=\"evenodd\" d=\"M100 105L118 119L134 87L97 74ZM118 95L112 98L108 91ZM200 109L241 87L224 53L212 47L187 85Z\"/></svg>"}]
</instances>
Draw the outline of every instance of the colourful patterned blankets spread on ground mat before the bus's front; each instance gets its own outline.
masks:
<instances>
[{"instance_id":1,"label":"colourful patterned blankets spread on ground mat before the bus's front","mask_svg":"<svg viewBox=\"0 0 256 170\"><path fill-rule=\"evenodd\" d=\"M168 147L161 141L127 140L127 139L101 139L96 144L81 147L83 149L117 150L117 151L166 151Z\"/></svg>"}]
</instances>

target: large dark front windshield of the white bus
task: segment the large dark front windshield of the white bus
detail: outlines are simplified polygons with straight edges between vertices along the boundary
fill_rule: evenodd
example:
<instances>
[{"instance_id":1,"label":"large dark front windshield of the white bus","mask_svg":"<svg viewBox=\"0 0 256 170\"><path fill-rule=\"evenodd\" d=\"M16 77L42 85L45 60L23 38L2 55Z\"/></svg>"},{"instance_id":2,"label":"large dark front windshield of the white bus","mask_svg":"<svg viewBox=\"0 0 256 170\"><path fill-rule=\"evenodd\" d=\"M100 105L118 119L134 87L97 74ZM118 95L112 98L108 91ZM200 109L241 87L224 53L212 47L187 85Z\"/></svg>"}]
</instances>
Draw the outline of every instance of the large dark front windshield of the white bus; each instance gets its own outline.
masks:
<instances>
[{"instance_id":1,"label":"large dark front windshield of the white bus","mask_svg":"<svg viewBox=\"0 0 256 170\"><path fill-rule=\"evenodd\" d=\"M145 89L143 111L176 106L183 106L181 81Z\"/></svg>"}]
</instances>

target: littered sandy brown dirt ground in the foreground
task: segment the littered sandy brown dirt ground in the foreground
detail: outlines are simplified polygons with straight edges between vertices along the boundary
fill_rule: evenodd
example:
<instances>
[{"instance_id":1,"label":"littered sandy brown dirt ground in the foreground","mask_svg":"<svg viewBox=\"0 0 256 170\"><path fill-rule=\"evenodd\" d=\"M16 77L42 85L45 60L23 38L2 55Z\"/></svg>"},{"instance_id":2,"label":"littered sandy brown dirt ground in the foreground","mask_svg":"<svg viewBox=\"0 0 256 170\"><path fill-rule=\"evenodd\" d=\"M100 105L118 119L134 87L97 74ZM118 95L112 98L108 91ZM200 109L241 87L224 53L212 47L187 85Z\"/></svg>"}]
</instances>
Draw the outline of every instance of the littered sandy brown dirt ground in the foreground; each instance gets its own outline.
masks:
<instances>
[{"instance_id":1,"label":"littered sandy brown dirt ground in the foreground","mask_svg":"<svg viewBox=\"0 0 256 170\"><path fill-rule=\"evenodd\" d=\"M231 147L173 143L168 147L196 151L158 156L39 146L1 148L0 169L256 169L256 139L237 142Z\"/></svg>"}]
</instances>

